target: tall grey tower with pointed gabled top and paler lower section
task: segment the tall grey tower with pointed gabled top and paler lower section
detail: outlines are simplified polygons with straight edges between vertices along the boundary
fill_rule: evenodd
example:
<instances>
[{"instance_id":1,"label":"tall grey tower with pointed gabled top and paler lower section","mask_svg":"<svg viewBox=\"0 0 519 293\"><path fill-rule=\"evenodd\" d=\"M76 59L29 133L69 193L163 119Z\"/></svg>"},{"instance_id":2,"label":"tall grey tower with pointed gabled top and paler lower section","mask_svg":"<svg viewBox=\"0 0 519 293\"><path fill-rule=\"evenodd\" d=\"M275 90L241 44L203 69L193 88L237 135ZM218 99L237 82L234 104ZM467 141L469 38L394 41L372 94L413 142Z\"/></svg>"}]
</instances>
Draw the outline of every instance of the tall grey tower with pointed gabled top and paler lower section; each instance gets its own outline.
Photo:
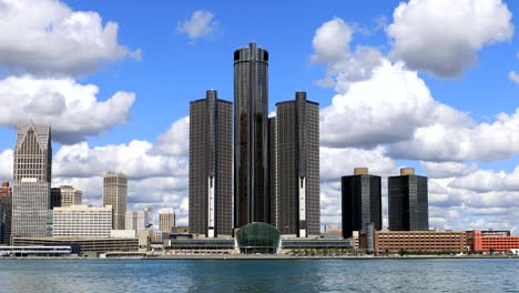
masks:
<instances>
[{"instance_id":1,"label":"tall grey tower with pointed gabled top and paler lower section","mask_svg":"<svg viewBox=\"0 0 519 293\"><path fill-rule=\"evenodd\" d=\"M18 125L12 194L13 236L45 236L51 170L51 128Z\"/></svg>"}]
</instances>

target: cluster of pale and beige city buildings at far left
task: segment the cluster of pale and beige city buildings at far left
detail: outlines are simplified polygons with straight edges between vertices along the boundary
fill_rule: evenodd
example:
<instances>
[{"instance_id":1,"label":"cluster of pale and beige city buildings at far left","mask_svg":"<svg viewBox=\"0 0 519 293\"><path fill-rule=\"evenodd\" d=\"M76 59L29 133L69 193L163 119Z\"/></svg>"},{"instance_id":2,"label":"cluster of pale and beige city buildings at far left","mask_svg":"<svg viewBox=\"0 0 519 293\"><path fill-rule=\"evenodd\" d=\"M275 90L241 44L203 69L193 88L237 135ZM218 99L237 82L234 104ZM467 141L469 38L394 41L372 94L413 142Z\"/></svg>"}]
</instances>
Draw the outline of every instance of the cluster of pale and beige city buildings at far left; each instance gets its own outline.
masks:
<instances>
[{"instance_id":1,"label":"cluster of pale and beige city buildings at far left","mask_svg":"<svg viewBox=\"0 0 519 293\"><path fill-rule=\"evenodd\" d=\"M81 205L82 192L73 186L51 188L49 125L18 127L13 166L13 191L8 182L0 188L0 243L9 243L11 236L110 236L112 230L138 231L152 225L151 210L126 212L124 174L109 172L104 176L103 208ZM163 216L163 226L174 225L173 212Z\"/></svg>"}]
</instances>

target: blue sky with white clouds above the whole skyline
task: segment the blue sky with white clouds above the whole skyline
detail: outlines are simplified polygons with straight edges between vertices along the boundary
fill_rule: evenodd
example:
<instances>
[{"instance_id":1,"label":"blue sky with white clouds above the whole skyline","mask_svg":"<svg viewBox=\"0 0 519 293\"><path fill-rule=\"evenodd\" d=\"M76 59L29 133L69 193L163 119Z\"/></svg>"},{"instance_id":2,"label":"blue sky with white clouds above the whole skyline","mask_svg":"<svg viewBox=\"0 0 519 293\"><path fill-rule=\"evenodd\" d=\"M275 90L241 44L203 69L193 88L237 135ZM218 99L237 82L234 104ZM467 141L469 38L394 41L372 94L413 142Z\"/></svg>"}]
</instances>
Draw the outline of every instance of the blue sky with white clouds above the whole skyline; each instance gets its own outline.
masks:
<instances>
[{"instance_id":1,"label":"blue sky with white clouds above the whole skyline","mask_svg":"<svg viewBox=\"0 0 519 293\"><path fill-rule=\"evenodd\" d=\"M431 228L519 231L517 1L0 0L0 180L16 125L51 124L52 185L187 224L189 102L233 100L233 52L269 52L269 112L320 105L320 213L340 223L342 175L429 178ZM156 218L156 216L155 216Z\"/></svg>"}]
</instances>

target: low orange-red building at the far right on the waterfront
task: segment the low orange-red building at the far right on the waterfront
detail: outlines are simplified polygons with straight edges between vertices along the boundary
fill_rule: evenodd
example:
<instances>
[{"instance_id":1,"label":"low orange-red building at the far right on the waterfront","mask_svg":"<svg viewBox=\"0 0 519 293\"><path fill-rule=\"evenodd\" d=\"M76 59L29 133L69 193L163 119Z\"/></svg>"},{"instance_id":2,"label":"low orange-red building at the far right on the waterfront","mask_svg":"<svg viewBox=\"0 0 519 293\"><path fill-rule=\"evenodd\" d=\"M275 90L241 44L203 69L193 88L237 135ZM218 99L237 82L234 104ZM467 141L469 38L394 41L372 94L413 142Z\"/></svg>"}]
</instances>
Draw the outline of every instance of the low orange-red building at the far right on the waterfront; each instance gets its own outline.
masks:
<instances>
[{"instance_id":1,"label":"low orange-red building at the far right on the waterfront","mask_svg":"<svg viewBox=\"0 0 519 293\"><path fill-rule=\"evenodd\" d=\"M519 235L510 231L467 231L467 243L471 251L508 252L519 249Z\"/></svg>"}]
</instances>

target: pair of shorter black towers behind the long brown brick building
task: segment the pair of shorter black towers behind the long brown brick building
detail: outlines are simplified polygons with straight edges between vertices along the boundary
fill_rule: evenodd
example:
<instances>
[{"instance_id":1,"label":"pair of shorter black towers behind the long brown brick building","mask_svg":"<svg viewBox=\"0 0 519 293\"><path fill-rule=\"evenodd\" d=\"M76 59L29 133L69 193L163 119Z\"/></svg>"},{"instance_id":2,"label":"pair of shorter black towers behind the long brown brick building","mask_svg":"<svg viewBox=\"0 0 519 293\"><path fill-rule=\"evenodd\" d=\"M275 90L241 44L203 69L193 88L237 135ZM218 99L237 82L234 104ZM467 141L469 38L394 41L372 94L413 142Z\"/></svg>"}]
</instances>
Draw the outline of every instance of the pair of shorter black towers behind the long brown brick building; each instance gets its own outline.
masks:
<instances>
[{"instance_id":1,"label":"pair of shorter black towers behind the long brown brick building","mask_svg":"<svg viewBox=\"0 0 519 293\"><path fill-rule=\"evenodd\" d=\"M428 231L429 212L427 178L403 168L399 176L389 176L388 214L390 231ZM380 176L368 174L367 168L356 168L355 174L343 176L343 236L354 231L381 230Z\"/></svg>"}]
</instances>

